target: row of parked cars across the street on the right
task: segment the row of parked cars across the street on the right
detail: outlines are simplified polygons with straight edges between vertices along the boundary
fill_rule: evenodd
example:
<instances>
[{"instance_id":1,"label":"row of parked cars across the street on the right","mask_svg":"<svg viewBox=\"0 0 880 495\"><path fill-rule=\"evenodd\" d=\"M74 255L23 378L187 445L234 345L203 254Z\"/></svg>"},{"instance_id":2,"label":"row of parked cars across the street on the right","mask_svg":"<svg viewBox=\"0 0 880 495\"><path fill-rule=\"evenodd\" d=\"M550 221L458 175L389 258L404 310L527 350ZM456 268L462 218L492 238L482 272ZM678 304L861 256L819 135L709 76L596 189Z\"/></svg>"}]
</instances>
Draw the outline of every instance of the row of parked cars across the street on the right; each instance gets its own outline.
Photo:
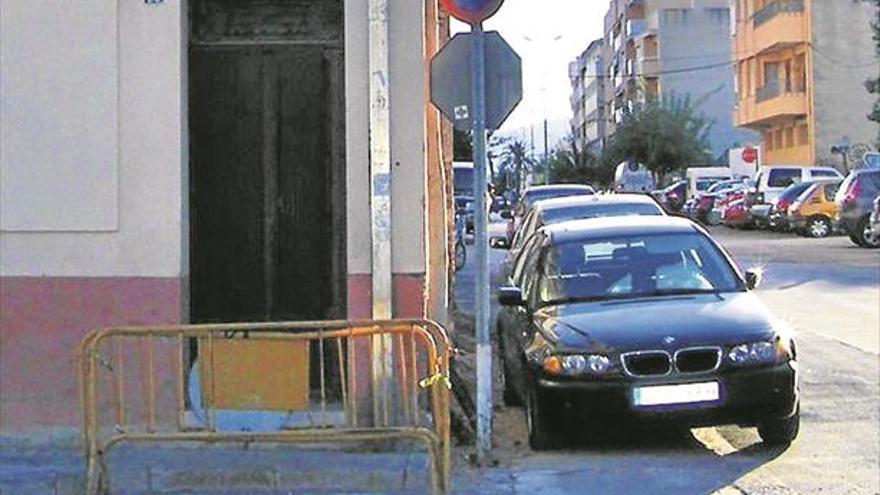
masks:
<instances>
[{"instance_id":1,"label":"row of parked cars across the street on the right","mask_svg":"<svg viewBox=\"0 0 880 495\"><path fill-rule=\"evenodd\" d=\"M720 180L676 211L678 183L663 191L667 211L704 225L791 231L822 238L847 235L866 248L880 247L880 230L871 223L880 195L880 169L858 169L846 178L829 167L773 166L754 180Z\"/></svg>"}]
</instances>

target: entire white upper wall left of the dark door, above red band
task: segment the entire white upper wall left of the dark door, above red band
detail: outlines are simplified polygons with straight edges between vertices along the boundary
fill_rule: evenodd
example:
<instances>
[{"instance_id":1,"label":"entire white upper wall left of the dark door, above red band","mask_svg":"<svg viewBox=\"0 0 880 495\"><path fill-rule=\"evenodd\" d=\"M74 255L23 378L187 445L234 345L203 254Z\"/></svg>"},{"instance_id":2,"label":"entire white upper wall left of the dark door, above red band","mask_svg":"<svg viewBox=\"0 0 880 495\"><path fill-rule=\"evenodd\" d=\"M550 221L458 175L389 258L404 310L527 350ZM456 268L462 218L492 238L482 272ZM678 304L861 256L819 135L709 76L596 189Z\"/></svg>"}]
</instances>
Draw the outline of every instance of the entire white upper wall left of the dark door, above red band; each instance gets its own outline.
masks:
<instances>
[{"instance_id":1,"label":"entire white upper wall left of the dark door, above red band","mask_svg":"<svg viewBox=\"0 0 880 495\"><path fill-rule=\"evenodd\" d=\"M4 84L2 207L12 210L9 217L3 217L0 232L0 275L179 277L188 270L185 3L165 0L147 5L118 0L116 9L113 3L0 2L4 83L7 79L39 79L43 68L47 68L46 77L83 81L77 90L54 81L35 80L30 89L20 82L10 88ZM51 15L36 16L37 11ZM36 53L27 52L28 47L16 41L6 43L7 36L12 38L16 33L40 32L53 37L58 33L84 36L86 31L94 31L94 43L64 43L62 48L47 41L38 45ZM7 65L7 57L18 62ZM41 70L22 64L25 58L39 60ZM63 73L48 69L52 67ZM105 108L109 99L117 101L112 112ZM100 108L91 105L95 101L100 102ZM12 115L6 111L23 107L26 112ZM41 134L47 121L70 134ZM9 134L7 128L11 129ZM12 152L7 157L10 146ZM59 162L67 167L64 173L47 174L53 164L47 160L53 156L73 157ZM113 188L118 196L112 201L101 187L113 173L104 162L100 168L90 158L95 156L113 157L112 169L118 177L118 186ZM35 164L28 157L43 161ZM31 174L31 170L40 173ZM23 187L7 188L7 177ZM75 194L46 195L41 189L59 184ZM34 191L44 192L35 196ZM71 204L78 203L85 192L100 197L95 202L104 214L112 212L115 225L82 205ZM35 212L22 214L22 209ZM46 211L63 211L54 228L47 223L51 215ZM9 231L7 218L26 220L32 226L28 230L37 231Z\"/></svg>"}]
</instances>

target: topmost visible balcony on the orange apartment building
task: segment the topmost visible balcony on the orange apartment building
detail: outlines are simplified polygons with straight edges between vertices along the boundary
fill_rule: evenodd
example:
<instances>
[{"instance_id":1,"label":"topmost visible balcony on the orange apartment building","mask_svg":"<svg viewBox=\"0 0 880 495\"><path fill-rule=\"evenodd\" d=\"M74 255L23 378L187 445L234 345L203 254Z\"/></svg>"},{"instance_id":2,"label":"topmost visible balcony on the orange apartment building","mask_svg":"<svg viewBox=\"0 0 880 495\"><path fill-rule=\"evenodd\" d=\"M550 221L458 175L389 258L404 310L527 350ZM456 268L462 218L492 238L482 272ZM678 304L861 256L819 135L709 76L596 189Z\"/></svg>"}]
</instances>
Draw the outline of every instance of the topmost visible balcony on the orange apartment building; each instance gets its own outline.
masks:
<instances>
[{"instance_id":1,"label":"topmost visible balcony on the orange apartment building","mask_svg":"<svg viewBox=\"0 0 880 495\"><path fill-rule=\"evenodd\" d=\"M809 42L804 0L775 0L737 33L737 51L754 56Z\"/></svg>"}]
</instances>

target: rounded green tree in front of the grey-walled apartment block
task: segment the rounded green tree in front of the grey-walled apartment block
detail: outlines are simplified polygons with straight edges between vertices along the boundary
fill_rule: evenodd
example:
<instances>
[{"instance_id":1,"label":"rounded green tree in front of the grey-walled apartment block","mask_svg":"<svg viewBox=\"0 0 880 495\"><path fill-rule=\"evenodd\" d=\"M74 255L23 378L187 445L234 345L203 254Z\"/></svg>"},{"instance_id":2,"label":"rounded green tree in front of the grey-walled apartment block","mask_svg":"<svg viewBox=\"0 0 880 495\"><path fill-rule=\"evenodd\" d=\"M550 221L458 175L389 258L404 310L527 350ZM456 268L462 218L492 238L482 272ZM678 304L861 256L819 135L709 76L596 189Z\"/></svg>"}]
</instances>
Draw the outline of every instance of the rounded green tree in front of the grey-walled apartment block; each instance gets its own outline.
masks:
<instances>
[{"instance_id":1,"label":"rounded green tree in front of the grey-walled apartment block","mask_svg":"<svg viewBox=\"0 0 880 495\"><path fill-rule=\"evenodd\" d=\"M604 158L642 163L663 183L670 172L711 161L709 127L687 98L649 98L624 114Z\"/></svg>"}]
</instances>

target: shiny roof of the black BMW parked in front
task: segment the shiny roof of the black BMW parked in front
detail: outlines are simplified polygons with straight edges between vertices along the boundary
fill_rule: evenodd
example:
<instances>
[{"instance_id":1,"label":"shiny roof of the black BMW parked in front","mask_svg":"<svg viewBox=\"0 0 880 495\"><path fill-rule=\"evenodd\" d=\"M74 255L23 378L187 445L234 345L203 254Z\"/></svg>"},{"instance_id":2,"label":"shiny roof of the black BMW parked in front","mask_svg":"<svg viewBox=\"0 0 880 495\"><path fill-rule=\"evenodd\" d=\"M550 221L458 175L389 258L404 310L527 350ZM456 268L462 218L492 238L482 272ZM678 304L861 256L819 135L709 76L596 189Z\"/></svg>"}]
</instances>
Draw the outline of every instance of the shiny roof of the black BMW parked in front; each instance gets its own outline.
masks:
<instances>
[{"instance_id":1,"label":"shiny roof of the black BMW parked in front","mask_svg":"<svg viewBox=\"0 0 880 495\"><path fill-rule=\"evenodd\" d=\"M638 234L684 234L700 232L693 221L673 216L630 216L571 220L541 228L549 245Z\"/></svg>"}]
</instances>

